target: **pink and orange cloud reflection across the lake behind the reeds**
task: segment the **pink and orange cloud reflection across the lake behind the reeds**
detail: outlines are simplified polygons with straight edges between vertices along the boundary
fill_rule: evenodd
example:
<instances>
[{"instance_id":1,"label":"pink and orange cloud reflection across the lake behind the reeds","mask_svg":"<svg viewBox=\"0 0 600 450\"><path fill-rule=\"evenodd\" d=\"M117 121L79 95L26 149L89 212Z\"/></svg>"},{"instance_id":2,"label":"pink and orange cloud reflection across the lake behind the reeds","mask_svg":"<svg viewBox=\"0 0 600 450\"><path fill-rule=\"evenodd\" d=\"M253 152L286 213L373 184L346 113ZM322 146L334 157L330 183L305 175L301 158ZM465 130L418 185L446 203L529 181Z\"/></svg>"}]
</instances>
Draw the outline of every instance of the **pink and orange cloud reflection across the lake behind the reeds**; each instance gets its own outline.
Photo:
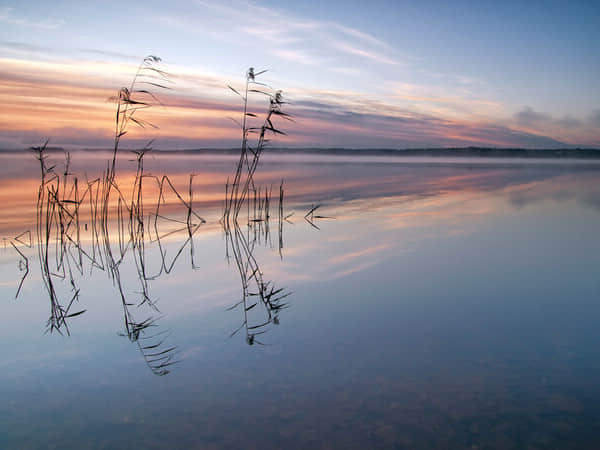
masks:
<instances>
[{"instance_id":1,"label":"pink and orange cloud reflection across the lake behind the reeds","mask_svg":"<svg viewBox=\"0 0 600 450\"><path fill-rule=\"evenodd\" d=\"M386 162L378 163L377 158L370 163L352 163L353 160L347 158L346 161L326 162L326 158L314 155L307 158L312 163L294 160L290 164L289 160L277 162L272 161L269 155L265 156L257 184L268 186L270 183L279 183L282 173L285 173L285 210L295 212L292 216L294 225L284 225L284 263L281 264L277 257L262 267L270 277L286 280L285 283L293 280L331 280L358 274L382 264L399 251L412 250L419 239L471 231L496 211L505 210L507 203L524 208L546 199L569 200L600 210L597 164L541 166L528 162L506 164L502 161L479 161L474 166L475 163L469 160L443 163L437 159L410 163L403 162L403 159L396 162L386 159ZM21 158L33 160L31 155ZM190 155L159 155L156 158L154 161L152 155L148 155L148 171L169 173L180 192L185 190L187 174L191 171L198 173L195 178L197 184L194 185L194 206L203 216L208 213L209 205L215 205L222 199L224 180L235 166L234 158L220 162ZM53 154L51 159L50 162L54 163L60 157ZM73 161L74 170L86 172L90 177L104 167L101 157L93 163L83 155L74 154ZM84 165L77 166L79 163ZM22 167L23 163L19 161L14 165ZM37 170L33 161L30 166L29 170ZM2 170L5 169L0 168L0 175ZM130 172L122 173L123 178L117 180L119 185L131 184L128 178L131 176ZM31 223L33 229L39 180L33 175L31 178L5 178L5 182L0 183L0 204L4 205L3 228L18 224L22 227L24 223ZM156 191L151 180L144 186L147 189L144 195L155 198ZM124 195L129 198L131 192L124 189ZM177 205L172 195L165 195L165 200L168 205ZM323 203L323 214L336 218L320 222L322 230L318 234L314 234L313 229L301 219L303 211L306 212L306 205L312 202ZM175 210L167 207L164 211L171 216ZM217 220L220 209L212 208L211 211L213 214L207 219L212 221L212 228L207 224L198 231L198 249L210 245L209 241L219 230ZM372 220L367 222L365 217ZM402 232L398 232L400 228ZM386 233L395 233L397 239L389 240L389 234ZM3 232L0 235L11 234ZM184 235L178 234L167 240L169 244L175 244L184 239ZM200 242L201 239L204 241ZM182 260L186 258L183 256ZM222 276L220 274L227 272L224 268L224 262L203 265L209 280ZM184 282L176 273L173 274L165 283L165 292ZM213 307L215 304L230 306L238 294L236 285L231 286L223 289L207 285L201 292L193 291L182 299L184 309L200 311L208 308L209 304ZM204 302L205 299L210 302Z\"/></svg>"}]
</instances>

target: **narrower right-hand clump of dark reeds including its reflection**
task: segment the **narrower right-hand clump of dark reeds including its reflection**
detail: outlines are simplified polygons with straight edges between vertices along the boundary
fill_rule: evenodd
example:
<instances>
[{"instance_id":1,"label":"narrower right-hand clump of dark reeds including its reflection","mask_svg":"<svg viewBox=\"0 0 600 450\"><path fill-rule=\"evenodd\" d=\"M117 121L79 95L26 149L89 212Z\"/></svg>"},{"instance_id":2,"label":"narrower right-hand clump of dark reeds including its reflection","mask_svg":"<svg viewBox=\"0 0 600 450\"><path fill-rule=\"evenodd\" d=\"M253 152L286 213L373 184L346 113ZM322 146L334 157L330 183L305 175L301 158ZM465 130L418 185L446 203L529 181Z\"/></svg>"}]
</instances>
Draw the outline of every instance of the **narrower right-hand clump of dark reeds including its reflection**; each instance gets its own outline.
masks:
<instances>
[{"instance_id":1,"label":"narrower right-hand clump of dark reeds including its reflection","mask_svg":"<svg viewBox=\"0 0 600 450\"><path fill-rule=\"evenodd\" d=\"M273 91L268 85L260 83L256 78L266 71L255 72L254 68L246 72L246 83L244 93L240 93L233 87L229 88L242 100L243 115L240 121L232 119L241 129L242 145L240 158L236 167L235 176L230 183L225 185L225 207L222 225L226 237L227 254L229 248L233 254L236 267L240 274L242 283L242 299L230 309L238 306L243 308L244 319L242 325L231 335L235 335L242 328L246 332L246 342L262 344L256 337L264 334L270 324L279 323L279 313L287 307L283 299L291 292L285 288L276 288L272 281L266 281L258 262L254 257L254 249L261 241L265 244L270 239L271 197L273 187L260 187L254 181L254 174L260 161L260 156L268 145L268 135L284 135L285 133L276 128L276 118L291 120L290 116L282 111L285 104L281 91ZM267 111L262 117L249 110L249 95L257 94L268 101ZM259 122L256 125L252 122ZM251 141L251 137L256 139ZM278 249L283 256L283 212L284 204L283 180L279 186L278 206ZM240 216L241 211L246 211L245 221ZM241 230L240 222L246 225L247 232ZM250 320L250 311L258 305L263 307L265 315L256 323Z\"/></svg>"}]
</instances>

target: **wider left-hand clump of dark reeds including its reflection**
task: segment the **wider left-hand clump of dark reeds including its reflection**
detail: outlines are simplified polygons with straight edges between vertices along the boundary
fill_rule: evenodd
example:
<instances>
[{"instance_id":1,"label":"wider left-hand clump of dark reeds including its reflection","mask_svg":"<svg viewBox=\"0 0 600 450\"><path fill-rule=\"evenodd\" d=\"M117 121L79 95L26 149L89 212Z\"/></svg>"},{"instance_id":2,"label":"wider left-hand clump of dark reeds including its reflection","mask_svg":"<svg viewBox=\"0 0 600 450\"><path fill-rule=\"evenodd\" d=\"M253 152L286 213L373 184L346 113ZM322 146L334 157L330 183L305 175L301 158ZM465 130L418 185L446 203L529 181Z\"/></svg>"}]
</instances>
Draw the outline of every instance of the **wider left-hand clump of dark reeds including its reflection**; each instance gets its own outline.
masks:
<instances>
[{"instance_id":1,"label":"wider left-hand clump of dark reeds including its reflection","mask_svg":"<svg viewBox=\"0 0 600 450\"><path fill-rule=\"evenodd\" d=\"M33 151L40 162L41 170L36 208L37 246L42 279L51 305L48 330L59 333L64 331L66 334L70 334L68 319L85 312L85 310L73 311L73 307L77 304L80 295L78 278L83 276L89 265L90 270L106 272L118 292L123 307L125 328L123 334L138 346L153 373L165 375L169 372L168 367L175 363L173 359L175 347L164 348L165 332L155 331L160 314L149 292L148 280L151 277L146 271L144 250L146 211L142 183L151 176L144 173L143 161L144 155L151 149L151 142L135 152L137 170L129 200L125 198L123 190L115 179L119 145L121 138L128 132L129 124L133 123L143 128L155 127L154 124L139 117L138 111L158 103L158 99L149 89L139 86L166 88L164 84L156 81L168 80L167 74L154 66L159 61L160 58L155 56L144 58L130 87L119 90L118 96L115 97L117 112L112 161L101 177L91 181L86 180L82 192L79 179L69 170L71 159L68 153L64 171L59 173L55 166L47 164L47 143L33 148ZM163 190L166 186L170 187L189 209L186 227L190 236L188 241L191 240L191 236L199 224L204 223L202 218L191 211L191 198L189 202L183 200L166 175L160 180L157 178L155 180L159 185L159 198L150 217L152 215L159 216L161 201L164 201ZM192 178L190 178L190 196L191 180ZM111 206L111 202L116 202L116 208ZM91 243L91 249L84 245L82 240L81 208L86 206L90 211L90 226L88 228L86 224L84 228L84 232L88 232L85 242ZM200 223L193 223L192 217L199 219ZM118 241L116 246L112 242L115 230L111 229L111 225L114 223L116 223ZM157 240L160 242L160 236L157 237ZM182 249L188 241L184 243ZM139 297L137 300L132 299L130 294L126 293L121 279L120 266L125 260L128 250L131 250L133 254L138 274L137 295ZM161 255L164 256L162 250ZM161 265L161 272L163 270L170 271L164 261ZM57 291L58 282L66 282L69 286L70 292L67 297ZM147 308L148 312L142 311L142 307ZM143 318L138 318L139 314L142 314Z\"/></svg>"}]
</instances>

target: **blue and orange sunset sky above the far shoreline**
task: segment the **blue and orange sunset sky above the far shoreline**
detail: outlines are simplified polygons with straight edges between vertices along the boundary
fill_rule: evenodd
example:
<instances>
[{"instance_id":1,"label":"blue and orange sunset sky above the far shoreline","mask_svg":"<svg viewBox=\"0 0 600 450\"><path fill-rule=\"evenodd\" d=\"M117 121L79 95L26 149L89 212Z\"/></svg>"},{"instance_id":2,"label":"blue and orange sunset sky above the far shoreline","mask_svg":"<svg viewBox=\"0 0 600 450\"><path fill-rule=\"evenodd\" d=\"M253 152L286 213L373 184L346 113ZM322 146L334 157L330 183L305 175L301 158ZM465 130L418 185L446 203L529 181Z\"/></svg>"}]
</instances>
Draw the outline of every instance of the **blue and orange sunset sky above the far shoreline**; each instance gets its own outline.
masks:
<instances>
[{"instance_id":1,"label":"blue and orange sunset sky above the far shoreline","mask_svg":"<svg viewBox=\"0 0 600 450\"><path fill-rule=\"evenodd\" d=\"M600 147L598 29L591 1L0 0L0 148L110 148L146 55L168 89L124 146L238 146L254 67L276 146Z\"/></svg>"}]
</instances>

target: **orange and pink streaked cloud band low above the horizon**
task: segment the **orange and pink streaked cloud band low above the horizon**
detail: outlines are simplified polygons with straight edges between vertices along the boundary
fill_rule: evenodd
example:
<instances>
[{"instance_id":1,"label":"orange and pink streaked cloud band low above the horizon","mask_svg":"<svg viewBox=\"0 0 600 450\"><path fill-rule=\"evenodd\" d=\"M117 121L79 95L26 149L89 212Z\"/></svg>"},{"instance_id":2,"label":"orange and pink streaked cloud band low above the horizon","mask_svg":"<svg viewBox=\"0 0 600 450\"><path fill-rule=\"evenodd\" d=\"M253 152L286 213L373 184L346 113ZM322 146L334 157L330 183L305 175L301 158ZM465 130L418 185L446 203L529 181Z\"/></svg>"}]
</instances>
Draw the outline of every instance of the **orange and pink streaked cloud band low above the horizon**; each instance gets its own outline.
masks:
<instances>
[{"instance_id":1,"label":"orange and pink streaked cloud band low above the horizon","mask_svg":"<svg viewBox=\"0 0 600 450\"><path fill-rule=\"evenodd\" d=\"M302 56L302 53L300 53ZM30 141L52 136L56 145L101 145L110 142L114 105L107 98L129 83L136 64L77 61L25 61L0 59L0 135L3 142ZM229 120L240 114L239 98L226 85L235 80L218 74L199 74L189 67L170 66L173 89L161 93L164 108L152 110L152 121L160 127L162 148L231 147L239 130ZM418 93L417 90L406 91ZM564 147L572 144L547 133L553 126L580 130L591 127L575 118L552 119L548 114L524 109L502 123L463 115L436 112L438 108L483 110L484 101L472 98L414 97L410 103L386 97L343 90L290 89L286 92L294 124L283 124L288 136L277 139L286 146L328 147ZM432 104L433 107L415 107ZM440 106L441 105L441 106ZM495 105L488 105L493 109ZM525 116L525 117L524 117ZM519 122L519 119L521 122ZM523 119L536 127L521 126ZM587 128L586 128L587 129ZM596 132L597 135L597 132ZM21 136L21 137L19 137ZM591 134L593 138L593 134ZM133 138L141 139L133 133ZM152 136L154 137L154 136Z\"/></svg>"}]
</instances>

